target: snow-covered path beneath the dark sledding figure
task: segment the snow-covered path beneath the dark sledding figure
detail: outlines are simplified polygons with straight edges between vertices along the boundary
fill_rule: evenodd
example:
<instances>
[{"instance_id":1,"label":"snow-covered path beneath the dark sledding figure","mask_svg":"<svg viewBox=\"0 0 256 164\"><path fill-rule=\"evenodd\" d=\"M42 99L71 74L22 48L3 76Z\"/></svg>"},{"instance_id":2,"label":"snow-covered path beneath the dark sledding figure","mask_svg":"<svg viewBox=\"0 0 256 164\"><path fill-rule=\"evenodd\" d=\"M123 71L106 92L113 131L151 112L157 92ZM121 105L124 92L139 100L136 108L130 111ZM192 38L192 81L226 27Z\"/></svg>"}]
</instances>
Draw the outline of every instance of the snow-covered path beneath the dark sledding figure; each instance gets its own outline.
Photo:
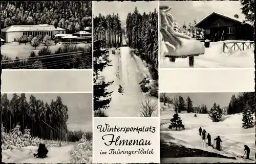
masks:
<instances>
[{"instance_id":1,"label":"snow-covered path beneath the dark sledding figure","mask_svg":"<svg viewBox=\"0 0 256 164\"><path fill-rule=\"evenodd\" d=\"M75 143L71 143L61 147L50 147L46 158L34 157L33 153L36 153L38 149L36 146L3 150L2 161L6 163L69 163L71 160L69 151L75 145Z\"/></svg>"}]
</instances>

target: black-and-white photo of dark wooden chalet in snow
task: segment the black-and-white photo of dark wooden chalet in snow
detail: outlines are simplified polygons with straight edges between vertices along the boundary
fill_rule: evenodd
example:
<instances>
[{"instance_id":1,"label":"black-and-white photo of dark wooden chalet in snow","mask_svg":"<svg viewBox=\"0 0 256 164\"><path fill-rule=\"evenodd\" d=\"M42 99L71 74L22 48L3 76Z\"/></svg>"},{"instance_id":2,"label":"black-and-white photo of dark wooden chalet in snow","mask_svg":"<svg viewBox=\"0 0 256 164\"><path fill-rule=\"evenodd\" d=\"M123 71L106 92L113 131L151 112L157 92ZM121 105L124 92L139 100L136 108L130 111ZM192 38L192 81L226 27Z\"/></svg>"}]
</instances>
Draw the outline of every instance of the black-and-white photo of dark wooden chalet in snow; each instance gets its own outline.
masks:
<instances>
[{"instance_id":1,"label":"black-and-white photo of dark wooden chalet in snow","mask_svg":"<svg viewBox=\"0 0 256 164\"><path fill-rule=\"evenodd\" d=\"M254 1L160 1L160 68L254 68Z\"/></svg>"}]
</instances>

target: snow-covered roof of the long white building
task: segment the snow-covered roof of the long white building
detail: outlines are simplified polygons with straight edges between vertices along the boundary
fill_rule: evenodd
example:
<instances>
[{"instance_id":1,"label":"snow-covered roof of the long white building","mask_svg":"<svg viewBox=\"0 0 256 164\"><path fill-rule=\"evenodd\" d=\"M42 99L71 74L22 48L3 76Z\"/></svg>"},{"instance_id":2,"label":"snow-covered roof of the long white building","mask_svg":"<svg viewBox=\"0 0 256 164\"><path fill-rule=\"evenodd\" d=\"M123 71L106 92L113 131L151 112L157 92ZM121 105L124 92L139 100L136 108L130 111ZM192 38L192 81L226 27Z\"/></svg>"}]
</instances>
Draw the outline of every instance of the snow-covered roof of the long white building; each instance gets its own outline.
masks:
<instances>
[{"instance_id":1,"label":"snow-covered roof of the long white building","mask_svg":"<svg viewBox=\"0 0 256 164\"><path fill-rule=\"evenodd\" d=\"M39 25L11 25L2 29L2 32L27 32L27 31L66 31L62 28L55 28L54 25L39 24Z\"/></svg>"}]
</instances>

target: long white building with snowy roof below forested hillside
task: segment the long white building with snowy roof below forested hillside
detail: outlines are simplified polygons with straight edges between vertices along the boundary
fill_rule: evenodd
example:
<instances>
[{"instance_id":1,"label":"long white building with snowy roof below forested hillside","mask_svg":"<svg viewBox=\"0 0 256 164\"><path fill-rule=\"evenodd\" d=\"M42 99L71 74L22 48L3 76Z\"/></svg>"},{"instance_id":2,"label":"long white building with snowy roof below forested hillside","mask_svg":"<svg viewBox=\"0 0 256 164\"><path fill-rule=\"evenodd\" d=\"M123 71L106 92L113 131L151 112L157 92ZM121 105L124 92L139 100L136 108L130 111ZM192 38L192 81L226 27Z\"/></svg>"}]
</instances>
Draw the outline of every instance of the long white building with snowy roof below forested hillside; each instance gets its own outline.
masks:
<instances>
[{"instance_id":1,"label":"long white building with snowy roof below forested hillside","mask_svg":"<svg viewBox=\"0 0 256 164\"><path fill-rule=\"evenodd\" d=\"M6 43L9 43L16 41L18 37L23 35L32 35L34 37L37 35L41 35L42 37L49 35L53 39L55 34L66 34L66 30L59 27L55 28L54 25L49 24L11 25L2 29L1 38L3 38Z\"/></svg>"}]
</instances>

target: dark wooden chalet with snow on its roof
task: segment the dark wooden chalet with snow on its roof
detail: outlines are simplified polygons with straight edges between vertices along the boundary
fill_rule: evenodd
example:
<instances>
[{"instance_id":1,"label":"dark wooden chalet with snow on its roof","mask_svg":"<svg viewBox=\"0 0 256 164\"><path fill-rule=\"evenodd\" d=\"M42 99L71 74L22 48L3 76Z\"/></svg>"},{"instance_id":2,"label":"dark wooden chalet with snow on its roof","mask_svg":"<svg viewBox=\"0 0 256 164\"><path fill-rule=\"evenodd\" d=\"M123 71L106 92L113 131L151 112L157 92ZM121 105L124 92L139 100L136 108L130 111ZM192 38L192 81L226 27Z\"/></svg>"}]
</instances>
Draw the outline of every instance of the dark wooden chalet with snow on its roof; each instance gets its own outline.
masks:
<instances>
[{"instance_id":1,"label":"dark wooden chalet with snow on its roof","mask_svg":"<svg viewBox=\"0 0 256 164\"><path fill-rule=\"evenodd\" d=\"M253 40L253 25L233 17L213 12L194 25L204 29L204 39L212 42L224 40Z\"/></svg>"}]
</instances>

